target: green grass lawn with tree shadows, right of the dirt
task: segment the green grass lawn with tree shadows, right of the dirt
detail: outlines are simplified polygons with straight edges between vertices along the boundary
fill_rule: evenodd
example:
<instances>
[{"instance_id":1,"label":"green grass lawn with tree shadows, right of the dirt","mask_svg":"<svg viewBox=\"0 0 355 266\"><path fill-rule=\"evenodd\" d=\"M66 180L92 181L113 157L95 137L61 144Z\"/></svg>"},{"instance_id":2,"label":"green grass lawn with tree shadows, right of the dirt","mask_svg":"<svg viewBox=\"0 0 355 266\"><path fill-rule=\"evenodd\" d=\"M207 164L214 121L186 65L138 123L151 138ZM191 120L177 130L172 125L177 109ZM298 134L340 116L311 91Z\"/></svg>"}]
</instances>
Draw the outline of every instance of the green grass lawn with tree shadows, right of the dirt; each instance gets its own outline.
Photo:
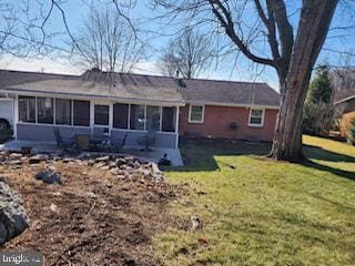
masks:
<instances>
[{"instance_id":1,"label":"green grass lawn with tree shadows, right of the dirt","mask_svg":"<svg viewBox=\"0 0 355 266\"><path fill-rule=\"evenodd\" d=\"M166 172L186 194L173 215L202 229L154 239L164 265L355 265L355 147L305 136L313 164L273 162L267 144L200 143ZM316 146L316 147L315 147Z\"/></svg>"}]
</instances>

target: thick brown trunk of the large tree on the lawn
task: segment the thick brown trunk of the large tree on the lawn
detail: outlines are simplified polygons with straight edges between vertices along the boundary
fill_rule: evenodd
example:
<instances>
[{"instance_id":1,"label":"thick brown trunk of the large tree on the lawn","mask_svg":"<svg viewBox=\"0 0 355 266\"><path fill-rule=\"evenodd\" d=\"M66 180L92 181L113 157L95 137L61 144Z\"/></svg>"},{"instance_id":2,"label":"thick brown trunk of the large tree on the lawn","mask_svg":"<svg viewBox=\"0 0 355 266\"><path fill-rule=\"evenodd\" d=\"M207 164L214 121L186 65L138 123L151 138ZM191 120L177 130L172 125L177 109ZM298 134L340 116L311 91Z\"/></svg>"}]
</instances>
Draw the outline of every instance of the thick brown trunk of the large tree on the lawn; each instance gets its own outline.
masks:
<instances>
[{"instance_id":1,"label":"thick brown trunk of the large tree on the lawn","mask_svg":"<svg viewBox=\"0 0 355 266\"><path fill-rule=\"evenodd\" d=\"M303 1L288 71L285 79L280 78L281 108L270 154L275 160L298 162L304 158L303 104L311 72L325 41L336 4L337 0Z\"/></svg>"}]
</instances>

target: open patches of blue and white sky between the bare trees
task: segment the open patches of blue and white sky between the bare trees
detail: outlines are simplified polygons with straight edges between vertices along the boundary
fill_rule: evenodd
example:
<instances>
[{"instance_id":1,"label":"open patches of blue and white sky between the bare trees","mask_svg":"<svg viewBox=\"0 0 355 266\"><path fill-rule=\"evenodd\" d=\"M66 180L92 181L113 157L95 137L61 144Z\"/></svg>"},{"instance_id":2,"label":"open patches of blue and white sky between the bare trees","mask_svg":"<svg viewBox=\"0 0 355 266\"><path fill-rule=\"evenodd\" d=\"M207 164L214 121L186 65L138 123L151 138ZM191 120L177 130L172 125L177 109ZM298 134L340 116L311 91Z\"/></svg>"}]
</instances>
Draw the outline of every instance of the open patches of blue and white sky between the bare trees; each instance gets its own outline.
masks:
<instances>
[{"instance_id":1,"label":"open patches of blue and white sky between the bare trees","mask_svg":"<svg viewBox=\"0 0 355 266\"><path fill-rule=\"evenodd\" d=\"M30 4L33 10L37 10L36 1L30 0ZM48 1L50 2L50 1ZM67 22L70 31L72 33L78 33L82 29L82 24L88 18L89 14L89 4L90 2L95 2L94 0L83 1L83 0L70 0L62 1L61 7L65 12ZM105 0L101 0L101 2L105 2ZM171 33L173 30L164 30L166 28L162 27L162 22L151 18L154 17L153 11L150 9L150 0L140 0L138 1L136 7L133 10L130 10L130 17L133 21L139 23L144 22L144 29L158 32L158 34L151 34L150 45L152 49L150 50L150 55L142 62L136 65L136 70L134 72L145 73L145 74L161 74L158 68L158 61L160 57L160 51L166 45L170 37L165 35ZM297 17L297 8L300 7L301 0L290 0L288 4L288 13L291 13L291 21L296 23ZM110 1L106 1L108 7L112 7ZM48 7L44 6L44 10ZM355 7L354 7L355 8ZM353 43L355 38L354 29L351 30L338 30L338 27L348 25L353 20L353 16L355 12L347 12L347 7L341 7L337 9L335 18L333 20L332 30L328 33L328 38L324 45L325 50L321 52L318 62L329 62L332 65L341 64L343 60L337 52L334 51L349 51L354 52ZM36 11L33 11L36 13ZM253 20L253 16L255 13L253 10L246 11L247 19ZM146 22L149 21L149 22ZM65 29L63 24L63 20L61 14L55 11L51 14L50 19L45 25L48 31L53 32L63 32L63 34L59 34L52 40L52 44L55 47L64 47L68 42L68 34L65 34ZM171 27L173 29L173 27ZM161 33L161 34L159 34ZM261 51L261 49L260 49ZM263 52L263 51L261 51ZM55 54L51 54L51 57L45 58L31 58L31 59L21 59L16 58L10 54L2 54L0 57L0 68L9 69L9 70L26 70L26 71L43 71L50 73L71 73L71 74L80 74L85 69L81 65L74 65L69 62L63 57L58 57ZM233 71L232 71L233 70ZM235 55L231 53L231 57L223 60L217 64L213 64L206 72L204 72L200 78L204 79L217 79L217 80L235 80L235 81L258 81L266 82L275 90L278 90L277 84L277 75L273 69L264 69L261 66L251 68L250 61L245 58L239 55L237 61L235 61Z\"/></svg>"}]
</instances>

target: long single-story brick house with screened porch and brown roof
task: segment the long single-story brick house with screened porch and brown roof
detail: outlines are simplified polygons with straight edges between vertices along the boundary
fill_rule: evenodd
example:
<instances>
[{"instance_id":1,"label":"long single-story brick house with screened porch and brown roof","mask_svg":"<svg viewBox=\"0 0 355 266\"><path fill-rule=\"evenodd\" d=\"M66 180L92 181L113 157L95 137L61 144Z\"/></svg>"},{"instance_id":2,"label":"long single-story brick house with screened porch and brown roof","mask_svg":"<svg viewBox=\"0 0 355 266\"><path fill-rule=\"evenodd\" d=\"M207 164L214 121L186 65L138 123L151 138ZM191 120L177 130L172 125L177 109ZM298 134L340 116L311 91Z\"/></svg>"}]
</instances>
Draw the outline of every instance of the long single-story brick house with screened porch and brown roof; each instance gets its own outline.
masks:
<instances>
[{"instance_id":1,"label":"long single-story brick house with screened porch and brown roof","mask_svg":"<svg viewBox=\"0 0 355 266\"><path fill-rule=\"evenodd\" d=\"M54 141L54 127L65 136L104 127L110 135L128 133L128 145L146 131L155 131L155 145L166 147L176 147L179 135L271 141L278 111L278 94L265 83L99 70L0 70L0 93L14 100L17 140Z\"/></svg>"}]
</instances>

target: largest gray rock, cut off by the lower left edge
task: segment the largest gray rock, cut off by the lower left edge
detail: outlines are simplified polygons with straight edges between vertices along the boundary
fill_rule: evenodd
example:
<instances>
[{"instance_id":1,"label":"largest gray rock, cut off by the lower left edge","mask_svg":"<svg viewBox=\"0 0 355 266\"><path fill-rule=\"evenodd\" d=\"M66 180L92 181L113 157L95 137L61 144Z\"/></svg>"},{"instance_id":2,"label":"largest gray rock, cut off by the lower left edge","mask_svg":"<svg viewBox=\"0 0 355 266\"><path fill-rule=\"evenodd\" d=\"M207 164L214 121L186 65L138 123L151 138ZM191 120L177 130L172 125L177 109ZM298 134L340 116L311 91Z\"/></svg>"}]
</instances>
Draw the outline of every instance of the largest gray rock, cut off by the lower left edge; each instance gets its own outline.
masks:
<instances>
[{"instance_id":1,"label":"largest gray rock, cut off by the lower left edge","mask_svg":"<svg viewBox=\"0 0 355 266\"><path fill-rule=\"evenodd\" d=\"M19 194L0 181L0 245L20 235L29 227L30 219Z\"/></svg>"}]
</instances>

